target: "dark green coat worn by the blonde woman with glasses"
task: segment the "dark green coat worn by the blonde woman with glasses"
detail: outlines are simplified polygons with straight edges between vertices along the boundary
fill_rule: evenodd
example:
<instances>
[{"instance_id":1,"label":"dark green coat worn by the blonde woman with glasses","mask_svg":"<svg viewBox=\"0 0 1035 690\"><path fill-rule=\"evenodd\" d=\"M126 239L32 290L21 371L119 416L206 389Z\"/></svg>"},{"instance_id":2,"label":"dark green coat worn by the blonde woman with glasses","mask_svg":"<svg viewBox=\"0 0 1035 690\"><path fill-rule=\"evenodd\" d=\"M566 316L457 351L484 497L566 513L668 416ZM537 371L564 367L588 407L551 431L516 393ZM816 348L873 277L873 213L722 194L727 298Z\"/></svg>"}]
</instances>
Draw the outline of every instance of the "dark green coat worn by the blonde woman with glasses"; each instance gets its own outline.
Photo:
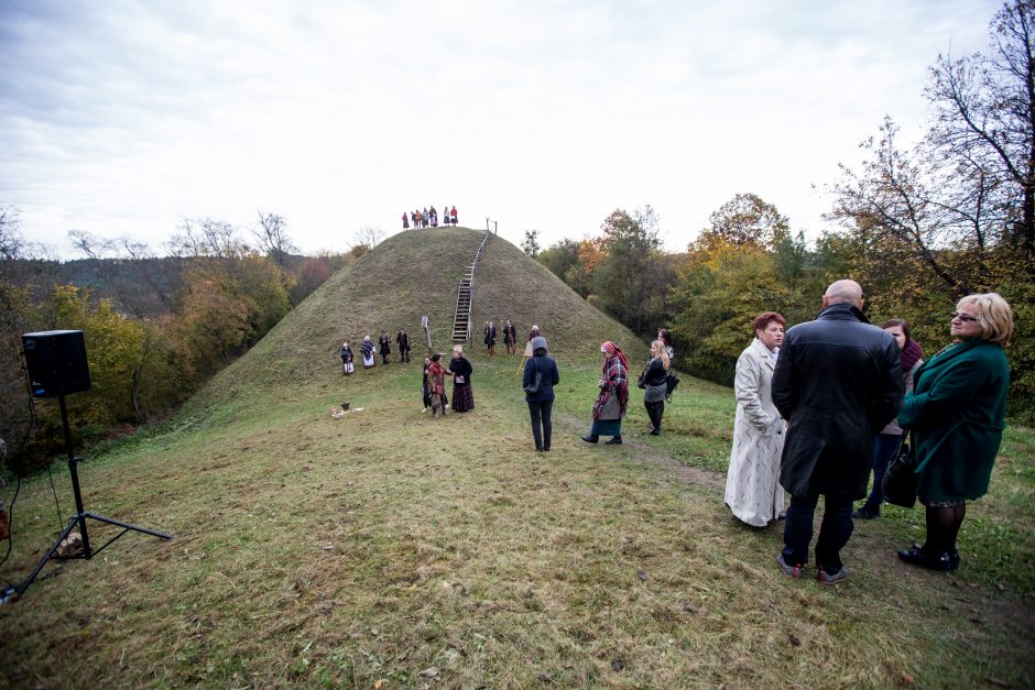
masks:
<instances>
[{"instance_id":1,"label":"dark green coat worn by the blonde woman with glasses","mask_svg":"<svg viewBox=\"0 0 1035 690\"><path fill-rule=\"evenodd\" d=\"M913 376L898 424L913 434L923 503L983 496L1003 439L1010 365L1003 349L970 340L943 350Z\"/></svg>"}]
</instances>

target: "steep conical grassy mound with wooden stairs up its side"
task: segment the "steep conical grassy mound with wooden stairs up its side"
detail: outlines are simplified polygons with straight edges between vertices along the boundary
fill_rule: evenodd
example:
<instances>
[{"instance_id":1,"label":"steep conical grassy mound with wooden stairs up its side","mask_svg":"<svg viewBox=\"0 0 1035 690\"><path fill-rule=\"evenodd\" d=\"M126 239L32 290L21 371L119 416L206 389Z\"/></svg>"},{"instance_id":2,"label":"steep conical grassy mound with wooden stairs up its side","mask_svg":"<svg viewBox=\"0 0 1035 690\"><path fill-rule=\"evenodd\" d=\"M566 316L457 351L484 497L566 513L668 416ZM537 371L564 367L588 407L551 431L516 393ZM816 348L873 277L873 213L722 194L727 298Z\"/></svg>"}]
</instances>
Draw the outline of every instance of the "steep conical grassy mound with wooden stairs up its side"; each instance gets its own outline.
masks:
<instances>
[{"instance_id":1,"label":"steep conical grassy mound with wooden stairs up its side","mask_svg":"<svg viewBox=\"0 0 1035 690\"><path fill-rule=\"evenodd\" d=\"M481 231L467 228L442 228L389 238L333 275L217 375L198 401L210 405L292 382L301 387L325 387L340 377L341 342L351 343L358 357L363 336L377 341L382 329L392 336L394 350L395 333L405 328L414 354L421 355L425 350L424 315L431 319L435 350L448 352L457 285L482 237ZM569 358L596 357L602 339L614 340L636 360L646 352L629 329L499 237L491 238L475 275L472 317L475 349L481 348L486 320L510 317L522 341L537 324L551 351ZM502 336L499 349L503 349Z\"/></svg>"}]
</instances>

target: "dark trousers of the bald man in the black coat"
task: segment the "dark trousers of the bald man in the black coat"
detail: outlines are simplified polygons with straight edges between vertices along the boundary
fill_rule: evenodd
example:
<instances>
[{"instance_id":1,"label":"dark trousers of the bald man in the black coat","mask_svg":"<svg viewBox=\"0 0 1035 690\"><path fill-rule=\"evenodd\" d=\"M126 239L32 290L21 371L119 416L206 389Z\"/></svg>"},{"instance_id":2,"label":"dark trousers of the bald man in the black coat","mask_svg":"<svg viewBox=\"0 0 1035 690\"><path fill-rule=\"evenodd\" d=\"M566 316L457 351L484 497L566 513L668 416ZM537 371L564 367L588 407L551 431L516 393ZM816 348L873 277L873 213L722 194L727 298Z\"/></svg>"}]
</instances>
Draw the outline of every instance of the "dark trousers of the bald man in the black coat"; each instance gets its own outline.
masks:
<instances>
[{"instance_id":1,"label":"dark trousers of the bald man in the black coat","mask_svg":"<svg viewBox=\"0 0 1035 690\"><path fill-rule=\"evenodd\" d=\"M784 524L784 560L792 566L808 562L808 545L813 540L813 516L819 494L799 499L791 496ZM822 523L816 539L816 562L828 573L841 569L841 549L852 536L852 502L836 495L825 496Z\"/></svg>"}]
</instances>

